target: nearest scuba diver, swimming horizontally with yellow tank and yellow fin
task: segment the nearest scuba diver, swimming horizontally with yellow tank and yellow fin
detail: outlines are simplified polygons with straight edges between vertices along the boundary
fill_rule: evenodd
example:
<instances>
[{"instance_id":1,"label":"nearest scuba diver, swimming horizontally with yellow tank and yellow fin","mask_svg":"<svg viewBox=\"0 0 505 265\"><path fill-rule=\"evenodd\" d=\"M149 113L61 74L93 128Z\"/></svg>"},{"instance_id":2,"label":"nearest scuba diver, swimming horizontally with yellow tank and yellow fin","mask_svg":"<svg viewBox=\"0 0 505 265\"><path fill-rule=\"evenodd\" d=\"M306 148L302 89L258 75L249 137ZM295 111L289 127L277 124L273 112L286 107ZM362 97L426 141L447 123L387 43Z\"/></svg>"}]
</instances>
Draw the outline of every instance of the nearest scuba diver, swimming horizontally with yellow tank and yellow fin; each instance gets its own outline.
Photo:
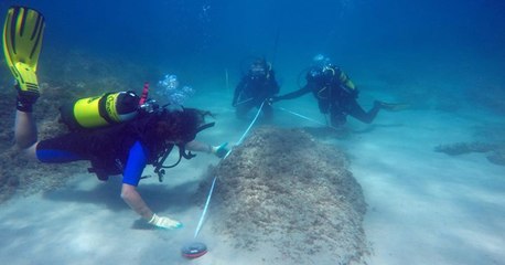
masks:
<instances>
[{"instance_id":1,"label":"nearest scuba diver, swimming horizontally with yellow tank and yellow fin","mask_svg":"<svg viewBox=\"0 0 505 265\"><path fill-rule=\"evenodd\" d=\"M165 168L174 167L181 158L195 156L187 150L224 157L227 152L225 145L213 147L194 140L202 129L213 126L205 124L205 117L211 113L158 107L152 100L146 100L147 94L139 97L132 92L108 93L62 108L62 120L71 131L37 140L33 105L40 96L36 66L44 26L44 17L36 10L11 7L8 11L3 50L18 91L17 146L29 157L45 163L89 160L89 171L104 181L109 176L122 173L120 195L132 210L157 227L182 227L181 222L152 212L137 186L147 165L155 167L154 172L161 181ZM174 147L179 148L179 161L164 166Z\"/></svg>"}]
</instances>

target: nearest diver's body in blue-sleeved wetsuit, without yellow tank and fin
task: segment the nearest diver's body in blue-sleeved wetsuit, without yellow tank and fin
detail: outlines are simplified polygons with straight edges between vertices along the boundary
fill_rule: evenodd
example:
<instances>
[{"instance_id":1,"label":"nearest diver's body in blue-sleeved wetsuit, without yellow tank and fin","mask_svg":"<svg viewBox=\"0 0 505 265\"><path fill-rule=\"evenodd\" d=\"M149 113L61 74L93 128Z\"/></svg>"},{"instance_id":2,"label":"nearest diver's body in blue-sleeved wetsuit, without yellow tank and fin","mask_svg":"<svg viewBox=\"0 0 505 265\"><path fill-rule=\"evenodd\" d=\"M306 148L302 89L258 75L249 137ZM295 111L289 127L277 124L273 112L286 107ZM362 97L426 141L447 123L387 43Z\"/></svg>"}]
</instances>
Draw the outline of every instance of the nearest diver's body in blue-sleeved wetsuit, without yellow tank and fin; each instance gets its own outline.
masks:
<instances>
[{"instance_id":1,"label":"nearest diver's body in blue-sleeved wetsuit, without yellow tank and fin","mask_svg":"<svg viewBox=\"0 0 505 265\"><path fill-rule=\"evenodd\" d=\"M153 213L137 191L137 186L147 165L161 168L162 158L173 147L186 159L187 150L212 152L223 157L227 152L221 147L212 147L194 138L205 128L204 119L209 113L184 108L161 110L139 115L133 120L110 127L76 130L52 139L37 141L33 115L17 112L15 142L28 155L41 162L62 163L89 160L92 171L100 180L122 173L121 198L150 224L163 229L178 229L181 223ZM204 127L202 127L204 126Z\"/></svg>"}]
</instances>

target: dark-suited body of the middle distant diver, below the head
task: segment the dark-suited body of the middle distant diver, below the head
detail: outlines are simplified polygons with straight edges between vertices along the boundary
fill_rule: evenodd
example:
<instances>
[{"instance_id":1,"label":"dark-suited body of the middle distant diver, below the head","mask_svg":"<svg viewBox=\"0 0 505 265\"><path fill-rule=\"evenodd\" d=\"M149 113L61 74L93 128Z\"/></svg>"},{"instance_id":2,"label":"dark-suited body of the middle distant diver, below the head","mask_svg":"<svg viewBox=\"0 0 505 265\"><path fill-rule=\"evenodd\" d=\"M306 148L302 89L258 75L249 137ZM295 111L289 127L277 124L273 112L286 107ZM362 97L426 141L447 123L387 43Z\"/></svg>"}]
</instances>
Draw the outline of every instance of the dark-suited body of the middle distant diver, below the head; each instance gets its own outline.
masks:
<instances>
[{"instance_id":1,"label":"dark-suited body of the middle distant diver, below the head","mask_svg":"<svg viewBox=\"0 0 505 265\"><path fill-rule=\"evenodd\" d=\"M271 98L279 93L273 71L267 75L244 76L235 88L233 106L236 107L237 117L244 117L253 107L259 107L267 98ZM264 105L265 117L269 118L272 114L270 105Z\"/></svg>"}]
</instances>

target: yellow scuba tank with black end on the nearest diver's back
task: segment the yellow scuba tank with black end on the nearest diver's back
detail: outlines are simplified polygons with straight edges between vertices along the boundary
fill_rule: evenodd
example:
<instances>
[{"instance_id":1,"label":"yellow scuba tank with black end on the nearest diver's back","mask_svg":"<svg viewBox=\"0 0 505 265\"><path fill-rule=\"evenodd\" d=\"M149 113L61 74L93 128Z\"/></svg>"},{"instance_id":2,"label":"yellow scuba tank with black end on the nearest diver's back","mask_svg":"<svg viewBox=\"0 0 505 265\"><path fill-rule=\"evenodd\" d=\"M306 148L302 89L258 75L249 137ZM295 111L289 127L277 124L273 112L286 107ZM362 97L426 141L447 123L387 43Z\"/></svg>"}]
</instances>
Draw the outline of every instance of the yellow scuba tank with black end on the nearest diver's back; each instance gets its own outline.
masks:
<instances>
[{"instance_id":1,"label":"yellow scuba tank with black end on the nearest diver's back","mask_svg":"<svg viewBox=\"0 0 505 265\"><path fill-rule=\"evenodd\" d=\"M139 113L139 100L133 92L106 93L65 104L60 113L62 121L71 129L98 128L135 118Z\"/></svg>"}]
</instances>

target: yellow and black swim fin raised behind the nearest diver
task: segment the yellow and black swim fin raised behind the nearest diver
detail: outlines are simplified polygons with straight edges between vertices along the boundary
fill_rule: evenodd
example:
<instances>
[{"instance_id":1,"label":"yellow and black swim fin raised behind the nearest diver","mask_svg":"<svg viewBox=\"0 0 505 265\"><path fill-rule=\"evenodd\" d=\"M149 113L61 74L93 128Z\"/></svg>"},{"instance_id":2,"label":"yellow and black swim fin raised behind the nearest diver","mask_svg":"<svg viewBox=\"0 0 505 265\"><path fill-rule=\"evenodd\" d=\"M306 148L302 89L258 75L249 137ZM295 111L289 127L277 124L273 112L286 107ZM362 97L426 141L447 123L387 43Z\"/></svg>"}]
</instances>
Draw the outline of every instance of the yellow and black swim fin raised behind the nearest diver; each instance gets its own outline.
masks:
<instances>
[{"instance_id":1,"label":"yellow and black swim fin raised behind the nearest diver","mask_svg":"<svg viewBox=\"0 0 505 265\"><path fill-rule=\"evenodd\" d=\"M36 64L42 47L45 20L36 10L11 7L3 24L3 53L22 97L37 98Z\"/></svg>"}]
</instances>

